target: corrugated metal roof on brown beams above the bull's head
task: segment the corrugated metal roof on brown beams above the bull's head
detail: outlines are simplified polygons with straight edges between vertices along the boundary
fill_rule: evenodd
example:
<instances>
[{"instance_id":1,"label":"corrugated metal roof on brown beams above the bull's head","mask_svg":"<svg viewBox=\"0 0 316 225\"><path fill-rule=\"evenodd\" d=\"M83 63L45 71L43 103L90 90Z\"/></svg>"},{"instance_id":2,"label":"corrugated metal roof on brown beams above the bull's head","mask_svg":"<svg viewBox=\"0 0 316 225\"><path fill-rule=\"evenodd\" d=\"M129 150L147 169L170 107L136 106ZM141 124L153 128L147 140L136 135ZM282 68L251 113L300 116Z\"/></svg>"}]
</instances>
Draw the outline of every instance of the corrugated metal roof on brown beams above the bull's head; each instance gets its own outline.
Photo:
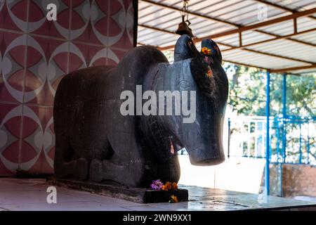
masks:
<instances>
[{"instance_id":1,"label":"corrugated metal roof on brown beams above the bull's head","mask_svg":"<svg viewBox=\"0 0 316 225\"><path fill-rule=\"evenodd\" d=\"M182 6L181 0L140 0L138 43L172 48L178 39L174 32L181 22ZM261 13L265 9L267 18ZM190 27L195 36L216 35L213 40L218 43L226 61L272 71L296 67L301 70L288 72L316 70L315 0L190 0L189 11ZM261 25L303 11L308 11L308 15ZM242 46L238 32L222 35L239 27L258 24L257 28L242 31Z\"/></svg>"}]
</instances>

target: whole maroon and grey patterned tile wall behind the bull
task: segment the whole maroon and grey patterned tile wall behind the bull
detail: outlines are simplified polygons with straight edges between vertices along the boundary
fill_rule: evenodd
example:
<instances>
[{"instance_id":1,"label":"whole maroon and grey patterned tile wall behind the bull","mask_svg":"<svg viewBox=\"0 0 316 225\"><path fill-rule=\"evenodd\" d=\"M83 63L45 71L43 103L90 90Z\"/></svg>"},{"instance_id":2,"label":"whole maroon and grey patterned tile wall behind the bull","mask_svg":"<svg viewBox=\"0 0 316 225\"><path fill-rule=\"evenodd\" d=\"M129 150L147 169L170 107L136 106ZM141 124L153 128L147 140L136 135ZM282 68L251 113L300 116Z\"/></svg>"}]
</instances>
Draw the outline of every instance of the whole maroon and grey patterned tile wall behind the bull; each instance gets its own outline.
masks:
<instances>
[{"instance_id":1,"label":"whole maroon and grey patterned tile wall behind the bull","mask_svg":"<svg viewBox=\"0 0 316 225\"><path fill-rule=\"evenodd\" d=\"M133 48L133 10L133 0L0 0L0 176L53 172L60 79L117 65Z\"/></svg>"}]
</instances>

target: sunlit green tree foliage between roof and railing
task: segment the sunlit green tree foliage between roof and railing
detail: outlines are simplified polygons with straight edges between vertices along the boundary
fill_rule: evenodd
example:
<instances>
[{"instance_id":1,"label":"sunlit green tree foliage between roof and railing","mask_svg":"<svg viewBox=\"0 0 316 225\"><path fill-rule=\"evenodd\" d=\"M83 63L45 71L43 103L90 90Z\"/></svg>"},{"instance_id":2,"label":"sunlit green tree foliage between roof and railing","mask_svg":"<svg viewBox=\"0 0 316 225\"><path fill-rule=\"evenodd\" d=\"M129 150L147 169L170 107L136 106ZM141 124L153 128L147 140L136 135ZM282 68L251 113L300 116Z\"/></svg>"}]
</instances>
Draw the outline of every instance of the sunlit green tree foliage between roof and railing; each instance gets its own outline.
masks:
<instances>
[{"instance_id":1,"label":"sunlit green tree foliage between roof and railing","mask_svg":"<svg viewBox=\"0 0 316 225\"><path fill-rule=\"evenodd\" d=\"M225 63L230 82L228 104L238 115L265 115L266 74L257 68ZM282 113L283 76L272 74L270 113ZM316 74L287 75L287 115L316 115Z\"/></svg>"}]
</instances>

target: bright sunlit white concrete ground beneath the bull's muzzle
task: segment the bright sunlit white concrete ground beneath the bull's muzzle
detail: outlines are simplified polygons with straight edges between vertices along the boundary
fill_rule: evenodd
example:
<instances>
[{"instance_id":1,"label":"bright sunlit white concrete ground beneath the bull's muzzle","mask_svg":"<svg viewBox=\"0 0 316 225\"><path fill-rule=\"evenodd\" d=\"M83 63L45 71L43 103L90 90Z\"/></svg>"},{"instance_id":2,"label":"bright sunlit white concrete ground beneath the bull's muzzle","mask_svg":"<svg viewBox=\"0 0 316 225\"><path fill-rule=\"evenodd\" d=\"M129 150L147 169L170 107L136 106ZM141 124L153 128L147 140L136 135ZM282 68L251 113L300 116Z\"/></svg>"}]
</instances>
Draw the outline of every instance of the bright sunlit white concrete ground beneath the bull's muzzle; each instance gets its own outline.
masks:
<instances>
[{"instance_id":1,"label":"bright sunlit white concrete ground beneath the bull's muzzle","mask_svg":"<svg viewBox=\"0 0 316 225\"><path fill-rule=\"evenodd\" d=\"M261 193L264 189L264 159L226 158L220 165L197 167L191 165L188 155L178 155L179 184L218 188L246 193ZM274 185L271 181L271 187Z\"/></svg>"}]
</instances>

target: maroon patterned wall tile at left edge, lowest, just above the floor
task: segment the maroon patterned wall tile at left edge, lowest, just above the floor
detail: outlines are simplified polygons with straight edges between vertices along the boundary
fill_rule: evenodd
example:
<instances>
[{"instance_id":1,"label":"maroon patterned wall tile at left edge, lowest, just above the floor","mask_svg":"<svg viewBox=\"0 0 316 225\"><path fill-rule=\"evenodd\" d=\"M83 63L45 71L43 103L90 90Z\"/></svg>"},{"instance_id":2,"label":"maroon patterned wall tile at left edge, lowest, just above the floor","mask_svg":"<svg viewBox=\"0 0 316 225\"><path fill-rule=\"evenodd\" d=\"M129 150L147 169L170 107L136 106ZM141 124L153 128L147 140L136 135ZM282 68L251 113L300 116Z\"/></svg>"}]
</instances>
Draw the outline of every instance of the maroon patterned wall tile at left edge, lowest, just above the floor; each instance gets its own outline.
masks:
<instances>
[{"instance_id":1,"label":"maroon patterned wall tile at left edge, lowest, just above the floor","mask_svg":"<svg viewBox=\"0 0 316 225\"><path fill-rule=\"evenodd\" d=\"M0 175L18 169L22 105L0 103Z\"/></svg>"}]
</instances>

